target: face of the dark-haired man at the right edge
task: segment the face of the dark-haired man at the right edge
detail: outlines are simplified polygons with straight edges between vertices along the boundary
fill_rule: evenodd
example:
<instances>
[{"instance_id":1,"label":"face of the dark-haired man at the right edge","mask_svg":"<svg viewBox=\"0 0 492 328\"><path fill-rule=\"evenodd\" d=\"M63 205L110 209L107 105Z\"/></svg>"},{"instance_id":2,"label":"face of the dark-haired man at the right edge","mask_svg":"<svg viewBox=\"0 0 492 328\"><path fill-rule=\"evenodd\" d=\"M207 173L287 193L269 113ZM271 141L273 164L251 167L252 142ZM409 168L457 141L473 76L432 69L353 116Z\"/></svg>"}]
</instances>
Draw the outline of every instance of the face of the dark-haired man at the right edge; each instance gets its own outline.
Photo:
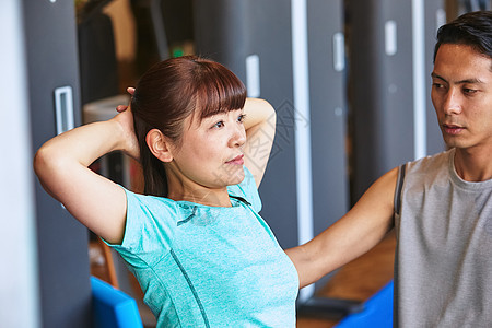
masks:
<instances>
[{"instance_id":1,"label":"face of the dark-haired man at the right edge","mask_svg":"<svg viewBox=\"0 0 492 328\"><path fill-rule=\"evenodd\" d=\"M492 147L492 59L466 45L442 45L431 98L450 148Z\"/></svg>"}]
</instances>

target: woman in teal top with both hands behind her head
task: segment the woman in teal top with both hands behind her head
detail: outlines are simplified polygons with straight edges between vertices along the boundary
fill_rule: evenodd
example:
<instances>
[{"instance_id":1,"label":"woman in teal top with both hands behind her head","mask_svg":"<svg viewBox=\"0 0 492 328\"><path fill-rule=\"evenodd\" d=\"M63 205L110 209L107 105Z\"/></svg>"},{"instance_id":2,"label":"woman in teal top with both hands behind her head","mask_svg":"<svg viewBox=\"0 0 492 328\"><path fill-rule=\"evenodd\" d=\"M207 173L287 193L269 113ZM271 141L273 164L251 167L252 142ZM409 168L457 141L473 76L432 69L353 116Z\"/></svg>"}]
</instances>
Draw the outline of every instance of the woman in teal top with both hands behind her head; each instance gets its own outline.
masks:
<instances>
[{"instance_id":1,"label":"woman in teal top with both hands behind her head","mask_svg":"<svg viewBox=\"0 0 492 328\"><path fill-rule=\"evenodd\" d=\"M120 253L159 327L294 327L297 273L258 214L273 136L273 108L231 71L180 57L152 67L115 118L46 142L34 167ZM116 150L141 162L145 195L87 168Z\"/></svg>"}]
</instances>

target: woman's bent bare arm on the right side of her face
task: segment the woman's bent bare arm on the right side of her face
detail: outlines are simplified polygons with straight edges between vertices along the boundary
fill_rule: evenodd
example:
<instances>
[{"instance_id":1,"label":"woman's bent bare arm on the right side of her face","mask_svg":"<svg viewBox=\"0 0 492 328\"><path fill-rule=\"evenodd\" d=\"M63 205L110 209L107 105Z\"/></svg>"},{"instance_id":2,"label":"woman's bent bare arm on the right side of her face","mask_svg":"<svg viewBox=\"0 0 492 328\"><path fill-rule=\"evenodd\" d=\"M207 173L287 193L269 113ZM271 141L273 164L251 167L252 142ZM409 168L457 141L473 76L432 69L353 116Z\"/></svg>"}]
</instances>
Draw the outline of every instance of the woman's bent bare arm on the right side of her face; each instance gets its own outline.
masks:
<instances>
[{"instance_id":1,"label":"woman's bent bare arm on the right side of her face","mask_svg":"<svg viewBox=\"0 0 492 328\"><path fill-rule=\"evenodd\" d=\"M247 137L244 161L255 177L256 186L259 187L276 136L276 110L267 101L246 98L244 114L246 114L244 127Z\"/></svg>"}]
</instances>

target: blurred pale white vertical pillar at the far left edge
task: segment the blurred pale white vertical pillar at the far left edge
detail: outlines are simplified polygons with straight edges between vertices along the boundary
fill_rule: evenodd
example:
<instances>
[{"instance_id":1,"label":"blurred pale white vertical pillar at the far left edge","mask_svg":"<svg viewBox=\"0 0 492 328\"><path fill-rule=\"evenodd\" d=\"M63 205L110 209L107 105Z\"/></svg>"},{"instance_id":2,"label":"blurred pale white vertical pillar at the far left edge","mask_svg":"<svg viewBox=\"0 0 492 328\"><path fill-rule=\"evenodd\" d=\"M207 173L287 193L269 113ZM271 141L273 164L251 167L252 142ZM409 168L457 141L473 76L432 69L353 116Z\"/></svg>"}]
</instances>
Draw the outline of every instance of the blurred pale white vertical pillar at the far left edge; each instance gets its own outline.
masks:
<instances>
[{"instance_id":1,"label":"blurred pale white vertical pillar at the far left edge","mask_svg":"<svg viewBox=\"0 0 492 328\"><path fill-rule=\"evenodd\" d=\"M37 328L39 300L34 177L22 1L0 10L0 325Z\"/></svg>"}]
</instances>

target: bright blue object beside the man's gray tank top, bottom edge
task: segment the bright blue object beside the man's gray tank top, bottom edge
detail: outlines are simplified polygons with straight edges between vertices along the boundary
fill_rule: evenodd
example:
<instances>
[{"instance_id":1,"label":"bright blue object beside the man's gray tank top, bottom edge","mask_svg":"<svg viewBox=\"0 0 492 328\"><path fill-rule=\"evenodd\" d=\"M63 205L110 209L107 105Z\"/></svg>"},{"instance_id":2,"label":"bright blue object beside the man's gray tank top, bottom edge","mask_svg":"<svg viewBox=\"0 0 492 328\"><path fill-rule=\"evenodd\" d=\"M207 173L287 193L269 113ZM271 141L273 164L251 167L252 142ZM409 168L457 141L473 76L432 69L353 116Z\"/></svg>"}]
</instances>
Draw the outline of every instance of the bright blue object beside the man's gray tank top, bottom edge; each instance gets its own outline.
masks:
<instances>
[{"instance_id":1,"label":"bright blue object beside the man's gray tank top, bottom edge","mask_svg":"<svg viewBox=\"0 0 492 328\"><path fill-rule=\"evenodd\" d=\"M363 312L347 316L336 327L393 327L393 280L367 300Z\"/></svg>"}]
</instances>

